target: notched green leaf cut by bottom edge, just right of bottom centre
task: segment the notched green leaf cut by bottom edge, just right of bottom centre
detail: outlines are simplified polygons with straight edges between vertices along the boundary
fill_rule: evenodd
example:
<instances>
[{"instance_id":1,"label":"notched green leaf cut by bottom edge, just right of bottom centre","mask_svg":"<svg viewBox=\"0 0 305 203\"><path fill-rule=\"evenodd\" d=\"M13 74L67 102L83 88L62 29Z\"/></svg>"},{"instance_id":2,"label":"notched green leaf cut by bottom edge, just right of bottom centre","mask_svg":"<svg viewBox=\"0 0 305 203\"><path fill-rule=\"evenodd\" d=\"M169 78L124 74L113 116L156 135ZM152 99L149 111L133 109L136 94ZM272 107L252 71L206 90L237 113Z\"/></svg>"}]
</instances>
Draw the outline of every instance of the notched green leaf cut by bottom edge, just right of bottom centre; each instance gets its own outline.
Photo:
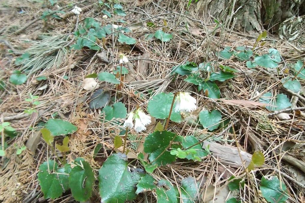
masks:
<instances>
[{"instance_id":1,"label":"notched green leaf cut by bottom edge, just right of bottom centre","mask_svg":"<svg viewBox=\"0 0 305 203\"><path fill-rule=\"evenodd\" d=\"M156 194L157 203L177 203L176 191L174 186L167 180L160 180L157 184ZM165 186L166 189L163 187ZM169 189L167 189L169 188Z\"/></svg>"}]
</instances>

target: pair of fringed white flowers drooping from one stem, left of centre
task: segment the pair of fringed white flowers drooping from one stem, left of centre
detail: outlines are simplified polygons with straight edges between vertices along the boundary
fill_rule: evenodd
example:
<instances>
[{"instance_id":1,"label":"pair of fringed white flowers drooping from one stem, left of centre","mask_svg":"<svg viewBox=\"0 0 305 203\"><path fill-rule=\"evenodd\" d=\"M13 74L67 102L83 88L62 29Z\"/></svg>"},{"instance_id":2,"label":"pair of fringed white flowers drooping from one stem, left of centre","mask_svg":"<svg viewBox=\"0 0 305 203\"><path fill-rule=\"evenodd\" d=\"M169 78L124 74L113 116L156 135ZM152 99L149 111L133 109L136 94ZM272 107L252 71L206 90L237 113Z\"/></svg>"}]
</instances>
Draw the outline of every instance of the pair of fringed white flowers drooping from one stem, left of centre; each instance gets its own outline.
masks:
<instances>
[{"instance_id":1,"label":"pair of fringed white flowers drooping from one stem, left of centre","mask_svg":"<svg viewBox=\"0 0 305 203\"><path fill-rule=\"evenodd\" d=\"M150 116L146 115L141 108L136 110L135 112L130 112L127 120L124 122L124 127L127 126L129 128L134 127L133 121L135 120L135 131L141 132L143 130L146 130L146 125L151 123Z\"/></svg>"}]
</instances>

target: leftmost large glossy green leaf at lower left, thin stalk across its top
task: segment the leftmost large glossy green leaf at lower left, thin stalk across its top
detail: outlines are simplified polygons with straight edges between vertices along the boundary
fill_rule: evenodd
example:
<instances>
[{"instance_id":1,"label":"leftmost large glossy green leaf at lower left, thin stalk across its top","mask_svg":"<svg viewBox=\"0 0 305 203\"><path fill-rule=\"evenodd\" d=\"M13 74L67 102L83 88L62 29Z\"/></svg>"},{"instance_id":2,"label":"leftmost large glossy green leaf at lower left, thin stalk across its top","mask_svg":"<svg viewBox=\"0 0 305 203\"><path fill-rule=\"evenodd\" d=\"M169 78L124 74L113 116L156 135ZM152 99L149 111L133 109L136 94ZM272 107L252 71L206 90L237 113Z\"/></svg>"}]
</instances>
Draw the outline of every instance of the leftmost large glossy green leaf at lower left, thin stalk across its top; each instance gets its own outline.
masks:
<instances>
[{"instance_id":1,"label":"leftmost large glossy green leaf at lower left, thin stalk across its top","mask_svg":"<svg viewBox=\"0 0 305 203\"><path fill-rule=\"evenodd\" d=\"M54 160L48 160L39 166L38 181L46 199L56 199L63 194L63 187L54 173L56 170L57 163Z\"/></svg>"}]
</instances>

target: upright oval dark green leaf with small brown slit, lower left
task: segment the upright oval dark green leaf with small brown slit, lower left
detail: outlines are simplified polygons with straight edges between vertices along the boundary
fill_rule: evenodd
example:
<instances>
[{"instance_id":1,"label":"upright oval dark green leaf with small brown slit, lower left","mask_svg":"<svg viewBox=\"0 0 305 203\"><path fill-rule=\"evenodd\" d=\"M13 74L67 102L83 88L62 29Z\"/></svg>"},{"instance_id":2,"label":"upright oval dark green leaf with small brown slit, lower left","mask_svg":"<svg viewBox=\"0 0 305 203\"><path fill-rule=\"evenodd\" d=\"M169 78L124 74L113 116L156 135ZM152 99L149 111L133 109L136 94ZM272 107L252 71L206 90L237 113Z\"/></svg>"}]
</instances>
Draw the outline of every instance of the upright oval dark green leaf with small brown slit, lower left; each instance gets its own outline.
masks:
<instances>
[{"instance_id":1,"label":"upright oval dark green leaf with small brown slit, lower left","mask_svg":"<svg viewBox=\"0 0 305 203\"><path fill-rule=\"evenodd\" d=\"M76 201L86 201L93 191L94 173L89 163L83 158L76 158L74 163L77 166L74 166L70 172L69 187Z\"/></svg>"}]
</instances>

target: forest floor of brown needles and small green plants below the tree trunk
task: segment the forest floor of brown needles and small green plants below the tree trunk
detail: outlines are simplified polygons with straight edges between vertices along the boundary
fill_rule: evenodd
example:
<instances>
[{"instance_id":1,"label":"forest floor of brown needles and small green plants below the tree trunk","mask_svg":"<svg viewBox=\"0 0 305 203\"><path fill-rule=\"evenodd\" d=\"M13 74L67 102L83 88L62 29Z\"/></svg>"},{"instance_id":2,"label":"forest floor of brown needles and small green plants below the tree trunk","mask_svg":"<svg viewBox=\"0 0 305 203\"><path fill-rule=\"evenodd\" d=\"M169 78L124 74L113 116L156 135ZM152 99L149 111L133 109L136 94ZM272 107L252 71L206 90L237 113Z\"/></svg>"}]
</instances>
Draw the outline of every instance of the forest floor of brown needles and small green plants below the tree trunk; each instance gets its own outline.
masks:
<instances>
[{"instance_id":1,"label":"forest floor of brown needles and small green plants below the tree trunk","mask_svg":"<svg viewBox=\"0 0 305 203\"><path fill-rule=\"evenodd\" d=\"M147 147L154 143L145 138L151 136L156 143L163 139L154 137L154 131L160 129L159 121L164 127L173 96L161 93L179 91L190 92L198 109L176 115L179 122L170 121L166 132L201 141L196 150L202 148L205 156L188 160L173 155L172 162L150 173L159 183L155 189L146 188L131 202L305 202L302 45L271 33L257 40L259 33L249 36L231 29L230 16L213 19L196 4L188 7L188 1L108 3L1 1L0 201L74 202L72 188L54 200L44 198L39 168L49 159L61 167L83 158L95 181L90 199L82 202L110 202L101 194L101 166L126 151L128 170L145 168L139 153L154 163ZM80 15L71 12L74 5L82 9ZM121 53L129 60L122 70ZM101 72L113 77L105 79ZM88 75L93 79L85 80ZM88 82L94 85L85 90ZM96 101L102 90L107 95ZM160 95L163 100L157 99ZM116 117L117 103L124 107ZM125 150L122 125L126 113L138 107L152 122L140 133L129 129ZM41 128L59 119L73 124L72 130L60 133L63 123L53 126L59 134L48 145ZM69 137L67 152L56 145L63 144L62 134ZM167 152L177 149L167 145ZM182 143L183 150L188 147ZM191 198L184 199L188 177L197 184ZM171 185L164 187L160 180ZM172 188L178 189L175 200L170 199Z\"/></svg>"}]
</instances>

